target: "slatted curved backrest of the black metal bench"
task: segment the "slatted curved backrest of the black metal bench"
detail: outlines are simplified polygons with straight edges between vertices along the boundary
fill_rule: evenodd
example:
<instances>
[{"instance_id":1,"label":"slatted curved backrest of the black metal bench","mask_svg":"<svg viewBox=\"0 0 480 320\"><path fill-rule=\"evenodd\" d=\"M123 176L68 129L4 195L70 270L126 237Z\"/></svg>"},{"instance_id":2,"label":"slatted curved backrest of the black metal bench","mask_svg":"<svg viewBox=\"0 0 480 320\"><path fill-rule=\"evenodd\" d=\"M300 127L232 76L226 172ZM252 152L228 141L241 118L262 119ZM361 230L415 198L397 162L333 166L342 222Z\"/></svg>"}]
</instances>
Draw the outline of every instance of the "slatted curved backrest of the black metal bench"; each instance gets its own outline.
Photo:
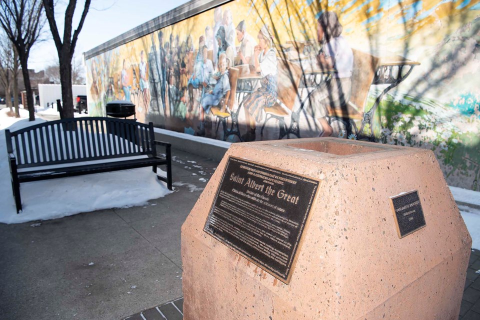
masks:
<instances>
[{"instance_id":1,"label":"slatted curved backrest of the black metal bench","mask_svg":"<svg viewBox=\"0 0 480 320\"><path fill-rule=\"evenodd\" d=\"M153 124L104 117L62 119L5 135L18 168L154 154Z\"/></svg>"}]
</instances>

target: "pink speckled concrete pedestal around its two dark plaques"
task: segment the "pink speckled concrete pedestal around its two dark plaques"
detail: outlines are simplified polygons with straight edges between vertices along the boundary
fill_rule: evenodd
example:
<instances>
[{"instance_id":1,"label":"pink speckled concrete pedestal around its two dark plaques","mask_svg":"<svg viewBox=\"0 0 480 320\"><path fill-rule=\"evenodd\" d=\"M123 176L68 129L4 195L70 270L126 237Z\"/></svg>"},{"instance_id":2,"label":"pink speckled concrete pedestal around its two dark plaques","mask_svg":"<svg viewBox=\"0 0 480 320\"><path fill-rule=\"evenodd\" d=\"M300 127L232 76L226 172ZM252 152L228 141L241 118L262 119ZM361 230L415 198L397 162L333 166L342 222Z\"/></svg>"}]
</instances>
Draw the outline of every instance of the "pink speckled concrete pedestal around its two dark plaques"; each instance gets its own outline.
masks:
<instances>
[{"instance_id":1,"label":"pink speckled concrete pedestal around its two dark plaques","mask_svg":"<svg viewBox=\"0 0 480 320\"><path fill-rule=\"evenodd\" d=\"M288 284L203 231L228 156L320 181ZM390 198L411 190L426 226L400 238ZM184 319L456 319L470 246L430 150L234 143L181 228Z\"/></svg>"}]
</instances>

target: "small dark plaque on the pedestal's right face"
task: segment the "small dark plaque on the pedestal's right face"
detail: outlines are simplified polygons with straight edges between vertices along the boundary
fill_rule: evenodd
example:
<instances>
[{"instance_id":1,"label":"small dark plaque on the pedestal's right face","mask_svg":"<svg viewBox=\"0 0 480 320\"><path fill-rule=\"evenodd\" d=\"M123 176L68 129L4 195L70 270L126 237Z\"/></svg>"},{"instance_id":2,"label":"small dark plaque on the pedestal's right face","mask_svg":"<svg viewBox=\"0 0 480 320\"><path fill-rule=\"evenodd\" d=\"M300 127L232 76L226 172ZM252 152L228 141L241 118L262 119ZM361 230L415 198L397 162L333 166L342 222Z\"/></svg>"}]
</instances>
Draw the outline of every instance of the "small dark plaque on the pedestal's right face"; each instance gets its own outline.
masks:
<instances>
[{"instance_id":1,"label":"small dark plaque on the pedestal's right face","mask_svg":"<svg viewBox=\"0 0 480 320\"><path fill-rule=\"evenodd\" d=\"M402 238L426 225L417 190L393 196L390 203L398 237Z\"/></svg>"}]
</instances>

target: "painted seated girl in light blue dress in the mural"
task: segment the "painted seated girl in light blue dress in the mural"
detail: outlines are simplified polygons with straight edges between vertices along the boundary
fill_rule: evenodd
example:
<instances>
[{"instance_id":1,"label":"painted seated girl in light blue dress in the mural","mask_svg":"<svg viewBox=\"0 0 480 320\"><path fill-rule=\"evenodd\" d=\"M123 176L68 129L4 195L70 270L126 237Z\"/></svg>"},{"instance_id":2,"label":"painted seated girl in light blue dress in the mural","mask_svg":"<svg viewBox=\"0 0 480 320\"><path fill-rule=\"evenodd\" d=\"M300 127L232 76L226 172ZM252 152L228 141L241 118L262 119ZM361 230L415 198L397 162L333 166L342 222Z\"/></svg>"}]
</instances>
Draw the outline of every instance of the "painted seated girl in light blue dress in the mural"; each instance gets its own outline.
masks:
<instances>
[{"instance_id":1,"label":"painted seated girl in light blue dress in the mural","mask_svg":"<svg viewBox=\"0 0 480 320\"><path fill-rule=\"evenodd\" d=\"M225 111L226 101L230 95L230 79L228 78L227 70L227 57L226 54L220 53L218 57L218 68L220 71L220 77L216 81L212 90L205 93L201 99L201 113L200 113L200 126L196 135L205 135L205 112L209 112L210 108L220 103L220 100L224 98L225 103L221 107L221 111Z\"/></svg>"}]
</instances>

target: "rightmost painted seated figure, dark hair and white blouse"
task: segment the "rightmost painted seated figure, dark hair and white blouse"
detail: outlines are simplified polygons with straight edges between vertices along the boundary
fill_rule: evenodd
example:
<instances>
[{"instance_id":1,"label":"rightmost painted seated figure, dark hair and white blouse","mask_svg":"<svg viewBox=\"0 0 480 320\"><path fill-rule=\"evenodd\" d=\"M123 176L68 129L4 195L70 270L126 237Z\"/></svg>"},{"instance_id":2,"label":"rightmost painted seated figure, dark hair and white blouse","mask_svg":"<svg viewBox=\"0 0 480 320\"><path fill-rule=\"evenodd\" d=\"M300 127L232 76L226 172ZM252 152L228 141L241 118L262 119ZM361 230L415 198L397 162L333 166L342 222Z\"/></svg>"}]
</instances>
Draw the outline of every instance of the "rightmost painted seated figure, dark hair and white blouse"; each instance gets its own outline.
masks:
<instances>
[{"instance_id":1,"label":"rightmost painted seated figure, dark hair and white blouse","mask_svg":"<svg viewBox=\"0 0 480 320\"><path fill-rule=\"evenodd\" d=\"M316 56L318 66L334 69L329 81L322 82L310 96L310 115L318 120L322 131L318 136L329 136L333 132L328 123L328 107L340 108L350 99L353 52L341 36L342 26L335 12L326 11L317 20L317 37L321 49Z\"/></svg>"}]
</instances>

